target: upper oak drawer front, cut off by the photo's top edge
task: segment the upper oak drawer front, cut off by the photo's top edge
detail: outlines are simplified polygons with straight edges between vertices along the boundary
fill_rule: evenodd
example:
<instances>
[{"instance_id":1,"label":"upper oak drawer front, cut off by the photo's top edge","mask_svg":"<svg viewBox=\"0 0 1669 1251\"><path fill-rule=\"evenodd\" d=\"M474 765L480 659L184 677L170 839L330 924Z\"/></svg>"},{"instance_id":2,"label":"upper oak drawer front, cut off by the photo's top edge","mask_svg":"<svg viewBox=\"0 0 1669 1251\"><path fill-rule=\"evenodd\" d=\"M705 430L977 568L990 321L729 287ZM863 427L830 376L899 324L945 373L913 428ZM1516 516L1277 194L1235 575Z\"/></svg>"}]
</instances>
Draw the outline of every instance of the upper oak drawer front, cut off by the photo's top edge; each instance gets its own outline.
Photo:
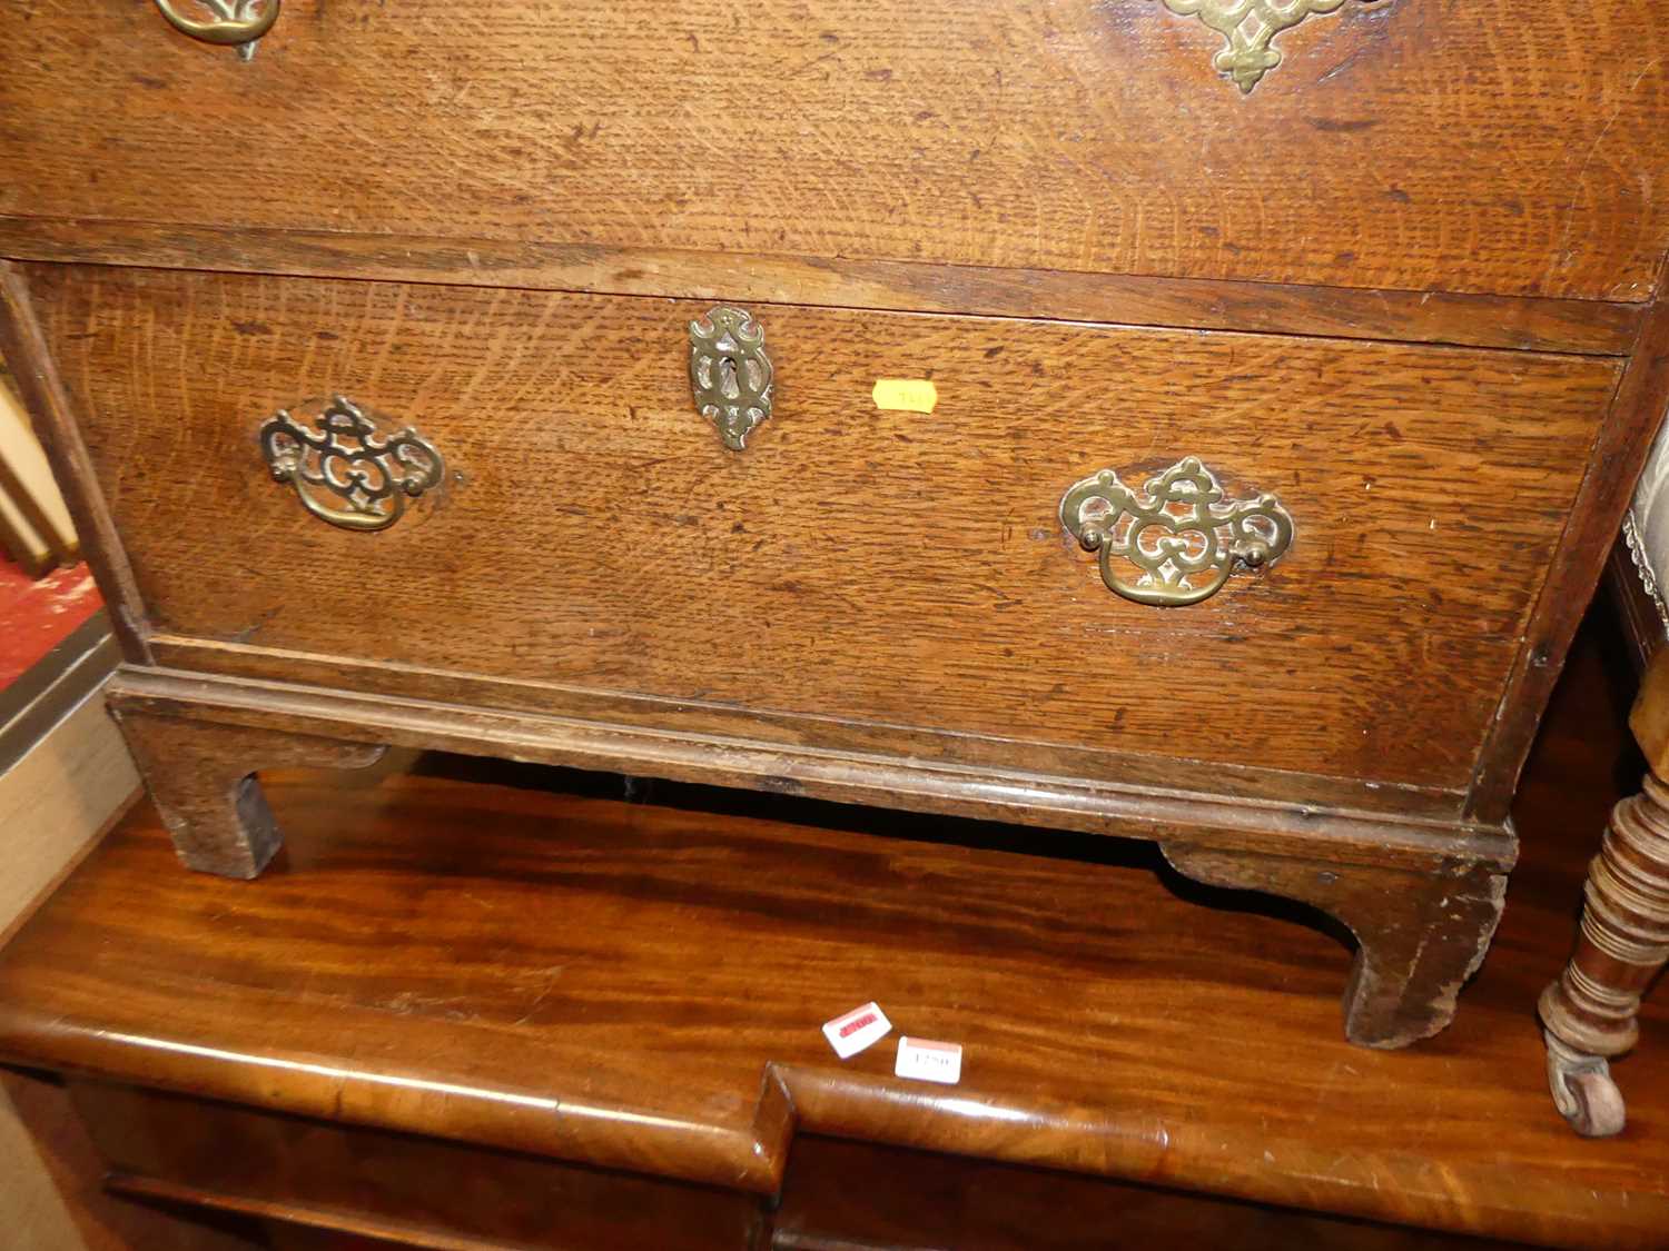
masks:
<instances>
[{"instance_id":1,"label":"upper oak drawer front, cut off by the photo's top edge","mask_svg":"<svg viewBox=\"0 0 1669 1251\"><path fill-rule=\"evenodd\" d=\"M1669 244L1639 0L1344 0L1250 95L1162 0L27 10L0 214L1624 300Z\"/></svg>"}]
</instances>

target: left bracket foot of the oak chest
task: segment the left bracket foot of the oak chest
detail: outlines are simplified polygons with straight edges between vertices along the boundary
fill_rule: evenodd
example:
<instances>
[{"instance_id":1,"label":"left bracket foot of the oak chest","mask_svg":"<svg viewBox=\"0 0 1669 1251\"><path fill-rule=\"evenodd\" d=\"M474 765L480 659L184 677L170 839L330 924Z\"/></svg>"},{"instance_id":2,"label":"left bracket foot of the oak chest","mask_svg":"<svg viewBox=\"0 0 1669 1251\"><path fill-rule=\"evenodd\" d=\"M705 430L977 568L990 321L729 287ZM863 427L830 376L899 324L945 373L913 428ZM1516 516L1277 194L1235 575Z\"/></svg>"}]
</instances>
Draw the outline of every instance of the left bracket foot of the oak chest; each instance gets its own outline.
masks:
<instances>
[{"instance_id":1,"label":"left bracket foot of the oak chest","mask_svg":"<svg viewBox=\"0 0 1669 1251\"><path fill-rule=\"evenodd\" d=\"M386 751L309 734L187 721L122 704L110 712L180 861L222 877L254 877L282 842L255 769L359 769L376 764Z\"/></svg>"}]
</instances>

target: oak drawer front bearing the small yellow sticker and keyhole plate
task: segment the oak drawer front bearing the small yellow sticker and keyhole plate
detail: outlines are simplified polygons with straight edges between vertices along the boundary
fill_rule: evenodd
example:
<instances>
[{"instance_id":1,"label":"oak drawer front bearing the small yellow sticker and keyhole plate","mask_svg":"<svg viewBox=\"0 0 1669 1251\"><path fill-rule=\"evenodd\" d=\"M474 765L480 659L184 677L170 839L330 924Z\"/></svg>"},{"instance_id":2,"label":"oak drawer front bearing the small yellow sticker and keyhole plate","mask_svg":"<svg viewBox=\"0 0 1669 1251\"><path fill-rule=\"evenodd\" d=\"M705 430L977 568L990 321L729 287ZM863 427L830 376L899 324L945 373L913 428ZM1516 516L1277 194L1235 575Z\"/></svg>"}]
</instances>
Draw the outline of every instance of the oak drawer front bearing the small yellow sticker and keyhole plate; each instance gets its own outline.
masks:
<instances>
[{"instance_id":1,"label":"oak drawer front bearing the small yellow sticker and keyhole plate","mask_svg":"<svg viewBox=\"0 0 1669 1251\"><path fill-rule=\"evenodd\" d=\"M30 280L162 632L554 709L534 684L803 714L813 742L868 721L1430 787L1470 774L1617 372L769 307L776 414L733 452L691 404L704 305ZM878 377L926 375L933 414L873 405ZM330 390L414 422L442 497L355 534L275 484L257 427ZM1275 492L1297 539L1203 604L1128 602L1061 494L1182 455Z\"/></svg>"}]
</instances>

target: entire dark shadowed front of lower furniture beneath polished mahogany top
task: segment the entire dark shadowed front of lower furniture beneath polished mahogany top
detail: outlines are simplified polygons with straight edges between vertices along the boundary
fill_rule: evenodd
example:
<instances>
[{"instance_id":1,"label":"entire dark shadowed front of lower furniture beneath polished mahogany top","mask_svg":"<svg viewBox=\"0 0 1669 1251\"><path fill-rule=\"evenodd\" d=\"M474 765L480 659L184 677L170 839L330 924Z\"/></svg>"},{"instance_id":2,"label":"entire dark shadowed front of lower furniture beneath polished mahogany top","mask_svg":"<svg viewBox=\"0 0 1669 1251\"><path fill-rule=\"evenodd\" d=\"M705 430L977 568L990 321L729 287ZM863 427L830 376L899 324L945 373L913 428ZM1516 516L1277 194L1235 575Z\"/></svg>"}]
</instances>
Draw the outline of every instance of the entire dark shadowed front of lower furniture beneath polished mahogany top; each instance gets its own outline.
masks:
<instances>
[{"instance_id":1,"label":"entire dark shadowed front of lower furniture beneath polished mahogany top","mask_svg":"<svg viewBox=\"0 0 1669 1251\"><path fill-rule=\"evenodd\" d=\"M464 1144L73 1083L122 1196L262 1216L272 1251L1507 1251L1519 1243L796 1136L781 1206Z\"/></svg>"}]
</instances>

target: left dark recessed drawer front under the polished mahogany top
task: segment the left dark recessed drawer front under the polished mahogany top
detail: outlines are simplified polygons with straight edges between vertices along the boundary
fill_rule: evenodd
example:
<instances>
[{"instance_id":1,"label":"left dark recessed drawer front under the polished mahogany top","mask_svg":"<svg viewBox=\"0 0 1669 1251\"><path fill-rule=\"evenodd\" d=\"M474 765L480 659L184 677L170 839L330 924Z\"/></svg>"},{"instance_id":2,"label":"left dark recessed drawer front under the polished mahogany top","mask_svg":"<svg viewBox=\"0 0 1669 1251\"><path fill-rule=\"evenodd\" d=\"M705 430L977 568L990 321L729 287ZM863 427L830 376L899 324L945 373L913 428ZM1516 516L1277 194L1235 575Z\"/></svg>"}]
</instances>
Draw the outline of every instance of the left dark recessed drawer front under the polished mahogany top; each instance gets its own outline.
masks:
<instances>
[{"instance_id":1,"label":"left dark recessed drawer front under the polished mahogany top","mask_svg":"<svg viewBox=\"0 0 1669 1251\"><path fill-rule=\"evenodd\" d=\"M406 1246L753 1251L764 1238L761 1199L743 1193L132 1086L70 1089L122 1194Z\"/></svg>"}]
</instances>

